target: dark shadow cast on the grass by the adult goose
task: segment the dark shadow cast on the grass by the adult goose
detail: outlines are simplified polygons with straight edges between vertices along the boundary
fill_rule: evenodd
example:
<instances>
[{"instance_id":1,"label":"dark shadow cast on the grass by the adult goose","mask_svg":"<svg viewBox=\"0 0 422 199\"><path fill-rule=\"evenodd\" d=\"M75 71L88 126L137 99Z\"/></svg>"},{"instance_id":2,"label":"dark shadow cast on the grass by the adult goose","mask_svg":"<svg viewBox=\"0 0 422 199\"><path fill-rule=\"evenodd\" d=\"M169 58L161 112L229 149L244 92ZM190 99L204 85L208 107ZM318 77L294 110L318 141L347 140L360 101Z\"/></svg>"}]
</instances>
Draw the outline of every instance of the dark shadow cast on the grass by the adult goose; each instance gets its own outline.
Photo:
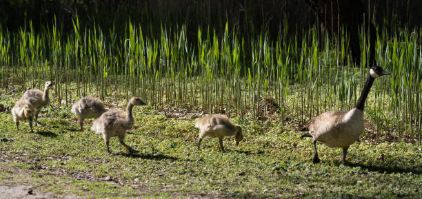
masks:
<instances>
[{"instance_id":1,"label":"dark shadow cast on the grass by the adult goose","mask_svg":"<svg viewBox=\"0 0 422 199\"><path fill-rule=\"evenodd\" d=\"M422 174L422 167L408 167L408 168L401 168L401 167L382 167L382 166L374 166L374 165L363 165L361 163L348 163L349 167L361 167L362 169L366 169L368 171L375 171L379 173L413 173L413 174Z\"/></svg>"}]
</instances>

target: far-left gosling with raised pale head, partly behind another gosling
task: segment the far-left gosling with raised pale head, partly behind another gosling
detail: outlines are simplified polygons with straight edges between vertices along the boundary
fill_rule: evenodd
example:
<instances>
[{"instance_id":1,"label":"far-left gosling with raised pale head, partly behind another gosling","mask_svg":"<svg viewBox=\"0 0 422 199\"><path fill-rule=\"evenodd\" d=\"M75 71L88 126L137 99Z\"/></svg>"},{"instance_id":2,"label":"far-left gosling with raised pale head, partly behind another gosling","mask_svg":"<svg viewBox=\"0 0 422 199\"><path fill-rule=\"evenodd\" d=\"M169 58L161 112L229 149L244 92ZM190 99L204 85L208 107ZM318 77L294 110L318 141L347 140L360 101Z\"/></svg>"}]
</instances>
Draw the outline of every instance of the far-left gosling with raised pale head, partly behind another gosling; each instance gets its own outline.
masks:
<instances>
[{"instance_id":1,"label":"far-left gosling with raised pale head, partly behind another gosling","mask_svg":"<svg viewBox=\"0 0 422 199\"><path fill-rule=\"evenodd\" d=\"M52 88L51 81L46 82L46 85L44 86L44 91L37 89L30 89L26 90L25 93L23 93L23 98L25 98L27 101L29 101L32 106L34 106L35 109L35 123L37 125L41 125L41 123L38 122L38 114L41 111L41 109L48 105L50 103L50 96L48 96L48 90Z\"/></svg>"}]
</instances>

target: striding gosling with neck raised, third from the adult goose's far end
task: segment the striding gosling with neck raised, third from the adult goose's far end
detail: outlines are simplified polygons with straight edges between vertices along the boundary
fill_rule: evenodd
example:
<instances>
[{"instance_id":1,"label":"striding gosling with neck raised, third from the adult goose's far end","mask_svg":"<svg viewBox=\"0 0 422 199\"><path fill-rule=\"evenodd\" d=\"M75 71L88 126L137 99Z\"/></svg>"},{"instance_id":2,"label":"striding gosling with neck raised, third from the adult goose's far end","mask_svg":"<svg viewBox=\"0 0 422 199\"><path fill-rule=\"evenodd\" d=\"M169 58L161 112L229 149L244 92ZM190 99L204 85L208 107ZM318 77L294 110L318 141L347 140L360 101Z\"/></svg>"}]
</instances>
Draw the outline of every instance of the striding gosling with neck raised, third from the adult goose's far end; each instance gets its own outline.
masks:
<instances>
[{"instance_id":1,"label":"striding gosling with neck raised, third from the adult goose's far end","mask_svg":"<svg viewBox=\"0 0 422 199\"><path fill-rule=\"evenodd\" d=\"M120 144L128 149L129 154L139 152L135 149L132 149L132 147L129 147L124 142L126 131L132 128L134 124L134 118L132 116L132 109L134 105L146 104L141 100L141 98L134 96L128 103L126 112L119 110L109 110L94 121L91 130L97 132L97 134L102 134L103 139L106 141L107 151L109 154L111 154L111 151L108 147L108 144L110 138L114 136L119 138Z\"/></svg>"}]
</instances>

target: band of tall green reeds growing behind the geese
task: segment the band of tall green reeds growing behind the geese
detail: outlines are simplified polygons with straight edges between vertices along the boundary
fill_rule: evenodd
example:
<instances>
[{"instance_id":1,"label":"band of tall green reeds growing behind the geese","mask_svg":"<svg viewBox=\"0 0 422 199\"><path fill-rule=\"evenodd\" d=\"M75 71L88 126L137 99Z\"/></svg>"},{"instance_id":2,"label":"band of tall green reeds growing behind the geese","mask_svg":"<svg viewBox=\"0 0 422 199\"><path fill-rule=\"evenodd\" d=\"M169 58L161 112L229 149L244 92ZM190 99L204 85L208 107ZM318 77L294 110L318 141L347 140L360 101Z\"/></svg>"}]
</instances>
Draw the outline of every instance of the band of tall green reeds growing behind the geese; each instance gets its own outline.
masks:
<instances>
[{"instance_id":1,"label":"band of tall green reeds growing behind the geese","mask_svg":"<svg viewBox=\"0 0 422 199\"><path fill-rule=\"evenodd\" d=\"M350 109L367 76L365 67L348 59L345 32L331 38L316 28L270 39L234 28L223 35L198 29L188 41L185 26L151 28L128 21L125 30L79 27L64 34L59 26L34 32L0 27L0 84L42 87L55 81L55 103L78 96L130 98L139 95L150 105L185 107L241 118L277 116L303 125L309 118L334 109ZM376 37L376 62L392 75L379 78L366 106L376 132L421 143L421 29L399 30ZM368 39L361 32L362 63L368 65ZM322 39L322 41L321 41ZM278 107L277 107L278 105ZM278 112L278 114L274 114ZM381 134L376 134L380 139Z\"/></svg>"}]
</instances>

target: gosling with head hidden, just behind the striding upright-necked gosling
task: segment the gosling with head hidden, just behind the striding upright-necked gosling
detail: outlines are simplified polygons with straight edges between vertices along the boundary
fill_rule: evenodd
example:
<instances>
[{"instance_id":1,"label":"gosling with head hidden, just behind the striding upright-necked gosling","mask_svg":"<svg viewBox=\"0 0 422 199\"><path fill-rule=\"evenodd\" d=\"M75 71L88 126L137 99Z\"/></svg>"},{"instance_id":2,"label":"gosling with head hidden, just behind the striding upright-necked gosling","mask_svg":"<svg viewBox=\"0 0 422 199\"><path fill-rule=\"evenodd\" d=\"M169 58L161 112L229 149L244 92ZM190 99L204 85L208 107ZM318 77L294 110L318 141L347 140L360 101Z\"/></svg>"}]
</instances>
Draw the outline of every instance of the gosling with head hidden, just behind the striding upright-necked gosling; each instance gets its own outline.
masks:
<instances>
[{"instance_id":1,"label":"gosling with head hidden, just behind the striding upright-necked gosling","mask_svg":"<svg viewBox=\"0 0 422 199\"><path fill-rule=\"evenodd\" d=\"M104 108L103 103L99 99L84 97L74 103L70 111L78 116L78 123L81 126L80 130L83 131L83 120L86 118L99 118L101 114L106 112L106 108Z\"/></svg>"}]
</instances>

